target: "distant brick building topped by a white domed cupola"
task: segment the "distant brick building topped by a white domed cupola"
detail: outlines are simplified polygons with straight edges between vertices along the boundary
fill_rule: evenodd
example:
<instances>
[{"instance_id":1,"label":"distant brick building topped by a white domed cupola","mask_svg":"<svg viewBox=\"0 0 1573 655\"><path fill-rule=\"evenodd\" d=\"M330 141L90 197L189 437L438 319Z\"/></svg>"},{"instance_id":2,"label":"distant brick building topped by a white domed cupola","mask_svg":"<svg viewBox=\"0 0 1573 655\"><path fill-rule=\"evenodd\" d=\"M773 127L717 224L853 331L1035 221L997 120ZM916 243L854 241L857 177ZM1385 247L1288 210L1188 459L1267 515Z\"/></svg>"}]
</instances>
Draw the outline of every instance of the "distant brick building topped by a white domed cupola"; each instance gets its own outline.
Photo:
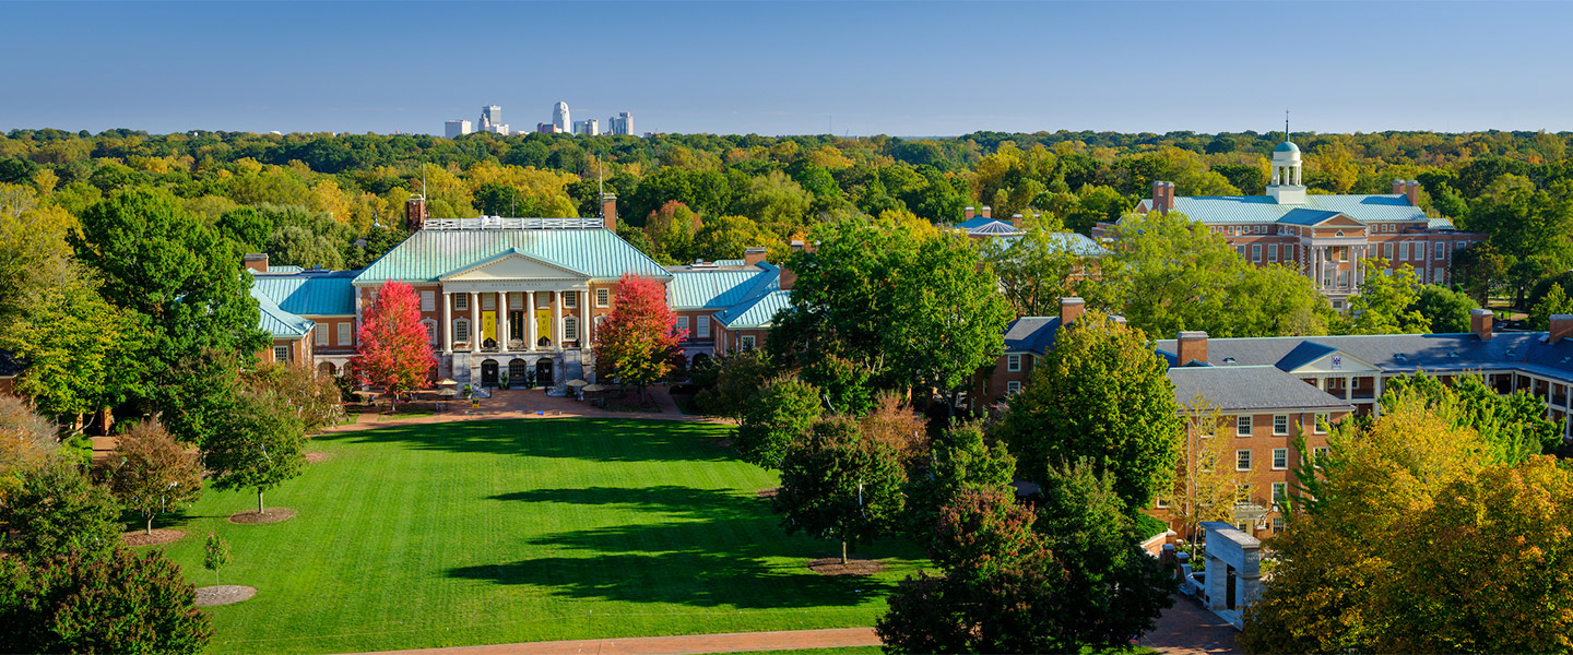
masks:
<instances>
[{"instance_id":1,"label":"distant brick building topped by a white domed cupola","mask_svg":"<svg viewBox=\"0 0 1573 655\"><path fill-rule=\"evenodd\" d=\"M1420 283L1447 284L1453 253L1485 240L1447 218L1427 217L1413 179L1395 179L1389 195L1307 193L1299 146L1291 141L1273 151L1269 182L1262 196L1194 198L1175 196L1173 182L1153 182L1153 196L1137 203L1136 214L1184 214L1252 264L1295 267L1339 311L1378 259L1384 269L1414 267ZM1112 229L1114 223L1100 223L1092 236L1104 239Z\"/></svg>"}]
</instances>

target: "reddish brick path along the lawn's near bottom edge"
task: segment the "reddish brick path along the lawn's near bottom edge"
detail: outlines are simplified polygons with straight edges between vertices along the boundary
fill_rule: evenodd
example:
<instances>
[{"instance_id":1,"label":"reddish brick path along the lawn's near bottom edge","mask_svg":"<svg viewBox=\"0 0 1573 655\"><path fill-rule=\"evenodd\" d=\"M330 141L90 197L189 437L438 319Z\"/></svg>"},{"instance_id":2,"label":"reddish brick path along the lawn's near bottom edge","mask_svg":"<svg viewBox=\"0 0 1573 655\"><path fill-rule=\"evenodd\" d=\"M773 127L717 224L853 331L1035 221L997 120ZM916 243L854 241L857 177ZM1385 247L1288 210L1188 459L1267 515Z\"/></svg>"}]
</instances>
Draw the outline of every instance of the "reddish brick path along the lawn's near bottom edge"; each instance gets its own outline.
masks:
<instances>
[{"instance_id":1,"label":"reddish brick path along the lawn's near bottom edge","mask_svg":"<svg viewBox=\"0 0 1573 655\"><path fill-rule=\"evenodd\" d=\"M875 628L783 630L771 633L724 633L680 636L631 636L623 639L532 641L524 644L461 646L451 649L392 650L420 655L692 655L749 650L838 649L879 646Z\"/></svg>"}]
</instances>

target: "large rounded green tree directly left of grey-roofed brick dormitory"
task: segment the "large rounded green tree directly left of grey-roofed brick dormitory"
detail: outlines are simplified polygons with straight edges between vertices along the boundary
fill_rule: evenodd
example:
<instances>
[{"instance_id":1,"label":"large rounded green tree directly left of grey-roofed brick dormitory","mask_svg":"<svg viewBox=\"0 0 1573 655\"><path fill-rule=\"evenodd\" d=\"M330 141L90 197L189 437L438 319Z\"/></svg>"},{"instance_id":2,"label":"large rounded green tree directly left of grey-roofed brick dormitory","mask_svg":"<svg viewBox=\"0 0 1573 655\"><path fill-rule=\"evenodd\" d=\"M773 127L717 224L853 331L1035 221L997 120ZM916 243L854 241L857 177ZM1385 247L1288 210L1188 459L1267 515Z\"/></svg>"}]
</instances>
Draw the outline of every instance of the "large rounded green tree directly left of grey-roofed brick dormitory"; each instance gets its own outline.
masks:
<instances>
[{"instance_id":1,"label":"large rounded green tree directly left of grey-roofed brick dormitory","mask_svg":"<svg viewBox=\"0 0 1573 655\"><path fill-rule=\"evenodd\" d=\"M1062 327L999 426L1019 473L1041 481L1085 459L1114 476L1129 507L1167 493L1184 424L1166 369L1139 330L1104 314L1089 311Z\"/></svg>"}]
</instances>

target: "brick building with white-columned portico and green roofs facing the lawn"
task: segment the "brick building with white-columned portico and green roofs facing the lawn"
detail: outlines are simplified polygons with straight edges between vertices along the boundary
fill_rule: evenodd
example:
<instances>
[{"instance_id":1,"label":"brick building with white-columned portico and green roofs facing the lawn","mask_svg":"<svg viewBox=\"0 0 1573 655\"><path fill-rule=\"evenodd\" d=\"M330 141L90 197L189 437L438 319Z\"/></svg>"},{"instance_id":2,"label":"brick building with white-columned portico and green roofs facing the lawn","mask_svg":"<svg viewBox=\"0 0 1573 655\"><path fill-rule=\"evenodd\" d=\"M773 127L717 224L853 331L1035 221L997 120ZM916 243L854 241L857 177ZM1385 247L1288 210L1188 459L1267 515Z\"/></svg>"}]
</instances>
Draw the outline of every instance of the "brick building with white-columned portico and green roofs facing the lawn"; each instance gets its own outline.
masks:
<instances>
[{"instance_id":1,"label":"brick building with white-columned portico and green roofs facing the lawn","mask_svg":"<svg viewBox=\"0 0 1573 655\"><path fill-rule=\"evenodd\" d=\"M437 375L483 386L503 372L546 386L595 382L595 330L617 306L624 273L667 287L692 360L763 346L791 284L764 248L662 267L617 236L610 195L596 218L433 220L418 196L406 217L411 237L365 270L271 267L266 254L249 254L260 327L272 336L261 358L341 374L378 287L403 281L420 298Z\"/></svg>"}]
</instances>

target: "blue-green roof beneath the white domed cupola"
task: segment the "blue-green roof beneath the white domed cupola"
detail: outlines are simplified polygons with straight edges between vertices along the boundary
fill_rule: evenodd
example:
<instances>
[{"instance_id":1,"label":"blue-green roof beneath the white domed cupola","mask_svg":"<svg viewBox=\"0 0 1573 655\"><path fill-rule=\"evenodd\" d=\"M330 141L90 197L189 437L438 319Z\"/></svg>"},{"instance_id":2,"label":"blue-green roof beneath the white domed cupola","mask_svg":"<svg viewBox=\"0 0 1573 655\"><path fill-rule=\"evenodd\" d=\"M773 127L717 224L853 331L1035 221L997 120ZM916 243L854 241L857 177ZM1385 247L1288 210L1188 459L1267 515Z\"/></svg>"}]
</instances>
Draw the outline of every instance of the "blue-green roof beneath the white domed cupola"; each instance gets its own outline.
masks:
<instances>
[{"instance_id":1,"label":"blue-green roof beneath the white domed cupola","mask_svg":"<svg viewBox=\"0 0 1573 655\"><path fill-rule=\"evenodd\" d=\"M1291 212L1335 212L1361 223L1430 221L1402 193L1307 195L1302 204L1279 204L1273 196L1177 196L1170 210L1206 225L1277 223Z\"/></svg>"}]
</instances>

